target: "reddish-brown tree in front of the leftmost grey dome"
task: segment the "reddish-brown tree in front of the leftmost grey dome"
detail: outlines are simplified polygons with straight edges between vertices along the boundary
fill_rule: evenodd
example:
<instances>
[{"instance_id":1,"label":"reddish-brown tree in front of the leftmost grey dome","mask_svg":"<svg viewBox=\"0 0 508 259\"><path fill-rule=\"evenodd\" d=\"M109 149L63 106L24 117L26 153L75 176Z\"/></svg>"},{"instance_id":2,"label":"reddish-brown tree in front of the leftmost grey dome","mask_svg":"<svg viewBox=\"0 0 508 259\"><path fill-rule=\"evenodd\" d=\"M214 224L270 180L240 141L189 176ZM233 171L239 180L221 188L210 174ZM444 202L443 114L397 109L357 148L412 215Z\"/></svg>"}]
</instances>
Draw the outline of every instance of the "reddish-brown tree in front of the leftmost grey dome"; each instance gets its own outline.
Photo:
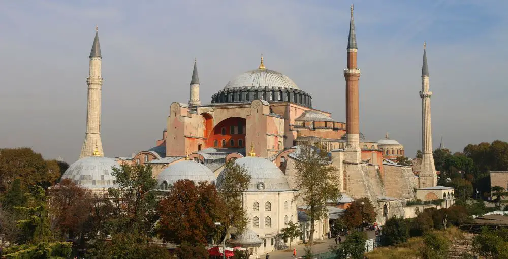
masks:
<instances>
[{"instance_id":1,"label":"reddish-brown tree in front of the leftmost grey dome","mask_svg":"<svg viewBox=\"0 0 508 259\"><path fill-rule=\"evenodd\" d=\"M80 236L92 209L92 192L71 179L49 189L51 227L63 239Z\"/></svg>"}]
</instances>

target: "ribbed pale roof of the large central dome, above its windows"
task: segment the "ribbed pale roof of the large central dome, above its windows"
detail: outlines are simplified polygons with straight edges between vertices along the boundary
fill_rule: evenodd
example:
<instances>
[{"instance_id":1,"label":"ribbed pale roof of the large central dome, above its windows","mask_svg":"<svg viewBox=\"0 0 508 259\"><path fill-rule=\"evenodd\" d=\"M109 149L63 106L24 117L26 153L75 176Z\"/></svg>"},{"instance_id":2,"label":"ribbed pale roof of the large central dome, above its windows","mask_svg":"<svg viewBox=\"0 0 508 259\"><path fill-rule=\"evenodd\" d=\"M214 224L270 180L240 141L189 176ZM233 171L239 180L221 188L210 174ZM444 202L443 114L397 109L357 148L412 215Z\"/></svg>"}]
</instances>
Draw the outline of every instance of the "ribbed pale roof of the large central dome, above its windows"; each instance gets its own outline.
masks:
<instances>
[{"instance_id":1,"label":"ribbed pale roof of the large central dome, above its windows","mask_svg":"<svg viewBox=\"0 0 508 259\"><path fill-rule=\"evenodd\" d=\"M299 90L298 86L289 77L270 69L255 69L238 75L229 81L224 90L245 87L263 87L270 89L291 88Z\"/></svg>"}]
</instances>

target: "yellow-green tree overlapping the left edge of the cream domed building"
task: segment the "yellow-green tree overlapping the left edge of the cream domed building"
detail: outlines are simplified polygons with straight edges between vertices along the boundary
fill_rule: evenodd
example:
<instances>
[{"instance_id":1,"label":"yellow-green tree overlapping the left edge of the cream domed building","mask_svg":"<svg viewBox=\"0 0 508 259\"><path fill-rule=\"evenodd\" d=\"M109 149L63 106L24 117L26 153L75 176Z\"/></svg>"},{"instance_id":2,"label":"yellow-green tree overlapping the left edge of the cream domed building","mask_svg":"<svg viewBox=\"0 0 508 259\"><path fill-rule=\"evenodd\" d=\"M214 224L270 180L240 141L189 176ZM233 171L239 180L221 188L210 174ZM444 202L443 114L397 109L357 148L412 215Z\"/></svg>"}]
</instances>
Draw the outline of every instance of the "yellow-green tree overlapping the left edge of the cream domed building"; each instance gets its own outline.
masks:
<instances>
[{"instance_id":1,"label":"yellow-green tree overlapping the left edge of the cream domed building","mask_svg":"<svg viewBox=\"0 0 508 259\"><path fill-rule=\"evenodd\" d=\"M237 233L243 232L247 227L248 219L242 207L242 193L247 190L251 176L245 166L236 164L234 159L226 162L221 175L217 183L219 183L220 196L227 208L228 215L224 229L225 237L227 237L231 226L237 229Z\"/></svg>"}]
</instances>

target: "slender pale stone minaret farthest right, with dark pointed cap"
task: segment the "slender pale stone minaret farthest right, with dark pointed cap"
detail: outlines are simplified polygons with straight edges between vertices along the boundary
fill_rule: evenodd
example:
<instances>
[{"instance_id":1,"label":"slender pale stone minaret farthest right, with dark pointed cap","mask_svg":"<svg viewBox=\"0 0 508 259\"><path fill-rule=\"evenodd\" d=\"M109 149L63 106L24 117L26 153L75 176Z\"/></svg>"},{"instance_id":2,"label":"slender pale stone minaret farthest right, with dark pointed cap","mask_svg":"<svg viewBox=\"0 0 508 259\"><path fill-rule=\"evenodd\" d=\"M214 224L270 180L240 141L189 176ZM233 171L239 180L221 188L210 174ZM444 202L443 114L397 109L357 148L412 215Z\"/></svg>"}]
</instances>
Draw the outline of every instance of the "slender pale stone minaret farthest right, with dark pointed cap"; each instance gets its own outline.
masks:
<instances>
[{"instance_id":1,"label":"slender pale stone minaret farthest right, with dark pointed cap","mask_svg":"<svg viewBox=\"0 0 508 259\"><path fill-rule=\"evenodd\" d=\"M422 64L422 166L420 168L420 188L437 186L436 167L432 156L432 125L430 123L430 96L429 91L429 68L427 67L427 50L423 43L423 64Z\"/></svg>"}]
</instances>

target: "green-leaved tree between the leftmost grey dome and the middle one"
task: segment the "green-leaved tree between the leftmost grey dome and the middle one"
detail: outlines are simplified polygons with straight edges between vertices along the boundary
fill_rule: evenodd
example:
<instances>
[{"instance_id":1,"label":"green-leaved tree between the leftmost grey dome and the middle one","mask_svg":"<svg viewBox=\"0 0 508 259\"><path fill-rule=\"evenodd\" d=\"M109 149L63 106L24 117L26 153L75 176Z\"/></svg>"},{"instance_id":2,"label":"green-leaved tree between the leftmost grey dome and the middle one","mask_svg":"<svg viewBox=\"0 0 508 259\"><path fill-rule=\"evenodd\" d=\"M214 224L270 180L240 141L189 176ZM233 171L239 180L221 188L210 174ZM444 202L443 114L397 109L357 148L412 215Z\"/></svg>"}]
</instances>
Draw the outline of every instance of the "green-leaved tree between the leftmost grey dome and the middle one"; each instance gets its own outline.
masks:
<instances>
[{"instance_id":1,"label":"green-leaved tree between the leftmost grey dome and the middle one","mask_svg":"<svg viewBox=\"0 0 508 259\"><path fill-rule=\"evenodd\" d=\"M148 165L122 164L113 168L117 188L108 189L114 212L110 223L116 232L143 232L150 235L158 219L155 209L157 180L152 178L152 167Z\"/></svg>"}]
</instances>

